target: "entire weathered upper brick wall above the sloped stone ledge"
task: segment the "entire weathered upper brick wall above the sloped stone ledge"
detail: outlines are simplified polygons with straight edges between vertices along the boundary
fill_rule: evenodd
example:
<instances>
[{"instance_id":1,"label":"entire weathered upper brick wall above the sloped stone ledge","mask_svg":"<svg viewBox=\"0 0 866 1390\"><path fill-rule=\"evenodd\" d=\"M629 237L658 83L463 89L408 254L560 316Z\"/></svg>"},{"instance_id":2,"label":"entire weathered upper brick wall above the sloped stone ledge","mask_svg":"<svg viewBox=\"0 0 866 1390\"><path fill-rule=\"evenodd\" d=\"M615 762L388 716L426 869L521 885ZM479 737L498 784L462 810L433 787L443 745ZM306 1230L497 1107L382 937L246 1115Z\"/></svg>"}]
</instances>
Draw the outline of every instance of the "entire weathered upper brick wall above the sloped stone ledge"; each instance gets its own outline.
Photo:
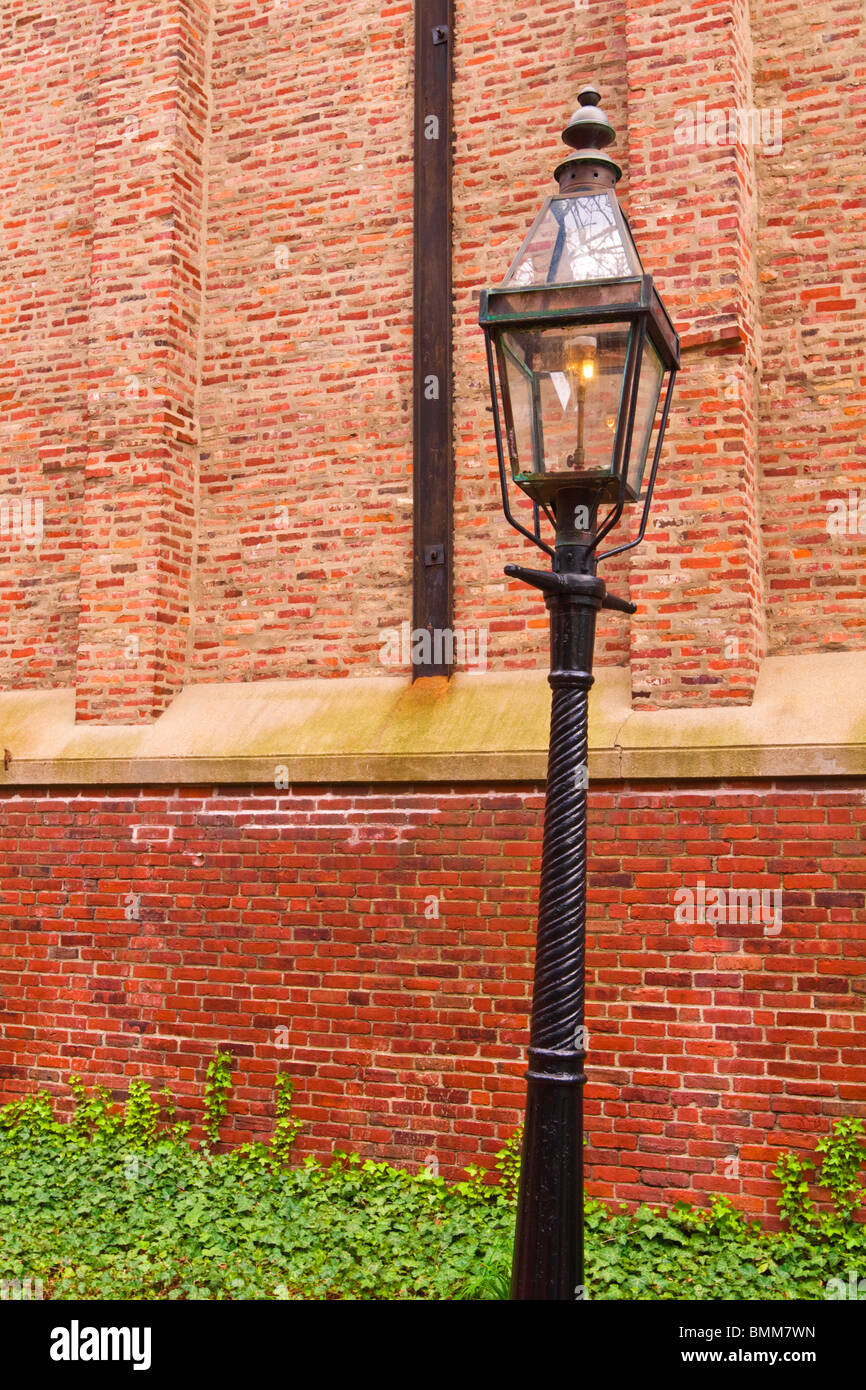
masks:
<instances>
[{"instance_id":1,"label":"entire weathered upper brick wall above the sloped stone ledge","mask_svg":"<svg viewBox=\"0 0 866 1390\"><path fill-rule=\"evenodd\" d=\"M410 0L43 10L0 6L0 503L44 509L40 545L0 528L0 678L146 721L190 680L381 674L411 612ZM544 662L546 623L502 574L477 292L589 78L685 341L599 659L637 703L730 703L767 651L863 645L865 24L459 0L456 621L491 666ZM698 103L778 111L780 147L678 140Z\"/></svg>"}]
</instances>

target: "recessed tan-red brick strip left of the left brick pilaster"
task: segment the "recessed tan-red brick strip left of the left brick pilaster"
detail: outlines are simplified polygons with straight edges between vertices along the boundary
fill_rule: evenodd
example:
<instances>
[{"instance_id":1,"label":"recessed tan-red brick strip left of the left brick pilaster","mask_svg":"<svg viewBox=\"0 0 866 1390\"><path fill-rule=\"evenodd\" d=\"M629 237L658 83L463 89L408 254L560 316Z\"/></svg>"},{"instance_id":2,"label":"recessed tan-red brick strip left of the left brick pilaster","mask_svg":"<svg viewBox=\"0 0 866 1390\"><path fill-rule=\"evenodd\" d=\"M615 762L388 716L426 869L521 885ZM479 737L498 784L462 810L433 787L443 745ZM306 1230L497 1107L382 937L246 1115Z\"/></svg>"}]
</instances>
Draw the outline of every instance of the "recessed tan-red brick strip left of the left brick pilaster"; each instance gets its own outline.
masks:
<instances>
[{"instance_id":1,"label":"recessed tan-red brick strip left of the left brick pilaster","mask_svg":"<svg viewBox=\"0 0 866 1390\"><path fill-rule=\"evenodd\" d=\"M0 7L0 682L70 684L88 453L99 28L93 6ZM42 541L38 542L39 516Z\"/></svg>"}]
</instances>

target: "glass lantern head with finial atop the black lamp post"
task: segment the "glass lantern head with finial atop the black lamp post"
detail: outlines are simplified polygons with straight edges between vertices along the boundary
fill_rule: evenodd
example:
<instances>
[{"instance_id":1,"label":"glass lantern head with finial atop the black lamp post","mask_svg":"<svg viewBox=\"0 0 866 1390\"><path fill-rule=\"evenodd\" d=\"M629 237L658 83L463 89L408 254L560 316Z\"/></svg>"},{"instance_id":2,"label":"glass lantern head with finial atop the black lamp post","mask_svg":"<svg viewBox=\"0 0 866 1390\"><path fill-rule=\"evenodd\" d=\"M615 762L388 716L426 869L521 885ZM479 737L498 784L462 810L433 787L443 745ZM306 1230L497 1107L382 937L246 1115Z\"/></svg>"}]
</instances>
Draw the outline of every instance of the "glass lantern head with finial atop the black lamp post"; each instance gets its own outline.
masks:
<instances>
[{"instance_id":1,"label":"glass lantern head with finial atop the black lamp post","mask_svg":"<svg viewBox=\"0 0 866 1390\"><path fill-rule=\"evenodd\" d=\"M559 193L544 203L502 284L482 293L480 321L503 484L507 450L514 482L552 517L569 489L594 507L612 503L619 518L626 503L644 496L649 505L680 341L616 199L620 170L605 153L610 122L596 92L580 101L563 136L575 154L556 170ZM507 498L506 514L513 521Z\"/></svg>"}]
</instances>

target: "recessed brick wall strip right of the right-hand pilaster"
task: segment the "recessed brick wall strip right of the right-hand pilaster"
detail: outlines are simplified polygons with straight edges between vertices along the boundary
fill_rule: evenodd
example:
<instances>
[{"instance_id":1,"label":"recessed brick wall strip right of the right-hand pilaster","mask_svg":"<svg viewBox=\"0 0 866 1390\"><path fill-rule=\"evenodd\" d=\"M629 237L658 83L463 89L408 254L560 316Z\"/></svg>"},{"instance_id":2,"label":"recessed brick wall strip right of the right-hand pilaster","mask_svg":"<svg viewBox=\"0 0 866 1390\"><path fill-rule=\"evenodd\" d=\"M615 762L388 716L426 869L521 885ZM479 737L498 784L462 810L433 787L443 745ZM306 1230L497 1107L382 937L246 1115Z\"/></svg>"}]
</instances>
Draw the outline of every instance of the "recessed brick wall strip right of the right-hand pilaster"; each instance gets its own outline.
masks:
<instances>
[{"instance_id":1,"label":"recessed brick wall strip right of the right-hand pilaster","mask_svg":"<svg viewBox=\"0 0 866 1390\"><path fill-rule=\"evenodd\" d=\"M858 0L760 0L755 43L756 101L781 111L783 131L781 156L758 165L769 644L862 648L866 13ZM847 534L828 535L842 500Z\"/></svg>"}]
</instances>

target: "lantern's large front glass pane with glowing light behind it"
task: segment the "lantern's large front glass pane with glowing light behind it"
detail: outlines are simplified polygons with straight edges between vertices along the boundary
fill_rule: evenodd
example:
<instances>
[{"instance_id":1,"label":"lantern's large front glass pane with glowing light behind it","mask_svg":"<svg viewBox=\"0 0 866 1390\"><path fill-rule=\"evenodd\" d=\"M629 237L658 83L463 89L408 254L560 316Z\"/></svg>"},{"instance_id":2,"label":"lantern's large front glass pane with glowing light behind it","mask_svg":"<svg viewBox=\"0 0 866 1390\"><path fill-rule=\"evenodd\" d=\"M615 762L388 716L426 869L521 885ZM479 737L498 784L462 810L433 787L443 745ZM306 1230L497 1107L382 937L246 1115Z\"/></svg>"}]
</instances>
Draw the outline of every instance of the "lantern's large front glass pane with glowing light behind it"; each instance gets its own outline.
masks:
<instances>
[{"instance_id":1,"label":"lantern's large front glass pane with glowing light behind it","mask_svg":"<svg viewBox=\"0 0 866 1390\"><path fill-rule=\"evenodd\" d=\"M512 471L532 496L548 498L567 485L606 491L613 478L630 332L628 322L502 332L499 361Z\"/></svg>"}]
</instances>

